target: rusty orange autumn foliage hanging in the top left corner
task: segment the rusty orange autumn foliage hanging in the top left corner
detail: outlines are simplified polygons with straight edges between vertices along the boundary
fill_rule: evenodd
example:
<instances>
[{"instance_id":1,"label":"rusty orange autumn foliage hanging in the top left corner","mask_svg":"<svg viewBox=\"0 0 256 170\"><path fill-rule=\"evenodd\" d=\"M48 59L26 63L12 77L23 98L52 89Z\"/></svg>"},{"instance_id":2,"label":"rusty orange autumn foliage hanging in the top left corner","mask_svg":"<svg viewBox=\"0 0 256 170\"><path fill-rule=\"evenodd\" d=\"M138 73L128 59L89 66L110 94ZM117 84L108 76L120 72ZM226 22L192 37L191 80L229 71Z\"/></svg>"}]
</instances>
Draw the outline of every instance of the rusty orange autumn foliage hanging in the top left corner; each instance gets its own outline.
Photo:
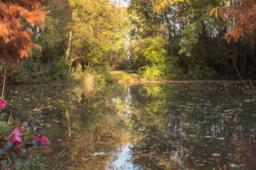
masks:
<instances>
[{"instance_id":1,"label":"rusty orange autumn foliage hanging in the top left corner","mask_svg":"<svg viewBox=\"0 0 256 170\"><path fill-rule=\"evenodd\" d=\"M32 27L43 27L46 12L40 9L44 0L0 0L0 64L27 58L32 49Z\"/></svg>"}]
</instances>

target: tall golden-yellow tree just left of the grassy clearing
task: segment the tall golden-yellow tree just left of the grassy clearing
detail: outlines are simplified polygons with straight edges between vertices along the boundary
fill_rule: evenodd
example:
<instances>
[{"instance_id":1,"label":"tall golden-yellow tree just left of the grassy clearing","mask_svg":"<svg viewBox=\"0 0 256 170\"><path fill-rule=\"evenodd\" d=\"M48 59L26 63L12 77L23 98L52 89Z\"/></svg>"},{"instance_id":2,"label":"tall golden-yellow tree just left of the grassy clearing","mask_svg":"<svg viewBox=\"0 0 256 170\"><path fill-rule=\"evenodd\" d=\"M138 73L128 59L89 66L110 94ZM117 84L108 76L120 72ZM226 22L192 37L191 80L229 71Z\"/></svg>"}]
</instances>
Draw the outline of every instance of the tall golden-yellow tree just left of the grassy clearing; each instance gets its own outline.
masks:
<instances>
[{"instance_id":1,"label":"tall golden-yellow tree just left of the grassy clearing","mask_svg":"<svg viewBox=\"0 0 256 170\"><path fill-rule=\"evenodd\" d=\"M108 65L115 53L121 8L110 1L69 0L72 9L66 60L71 71L73 63L81 62L84 69Z\"/></svg>"}]
</instances>

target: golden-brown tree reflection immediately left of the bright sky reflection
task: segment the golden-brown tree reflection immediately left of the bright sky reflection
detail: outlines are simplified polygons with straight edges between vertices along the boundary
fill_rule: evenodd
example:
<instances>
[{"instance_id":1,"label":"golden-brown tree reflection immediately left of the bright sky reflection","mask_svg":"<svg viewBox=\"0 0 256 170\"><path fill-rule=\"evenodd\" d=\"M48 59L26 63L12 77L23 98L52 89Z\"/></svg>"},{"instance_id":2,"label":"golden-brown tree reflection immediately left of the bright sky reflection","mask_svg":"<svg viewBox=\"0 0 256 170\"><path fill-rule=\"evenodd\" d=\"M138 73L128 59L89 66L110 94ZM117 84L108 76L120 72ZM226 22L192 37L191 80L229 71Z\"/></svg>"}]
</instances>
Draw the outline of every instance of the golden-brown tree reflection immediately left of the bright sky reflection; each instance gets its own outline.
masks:
<instances>
[{"instance_id":1,"label":"golden-brown tree reflection immediately left of the bright sky reflection","mask_svg":"<svg viewBox=\"0 0 256 170\"><path fill-rule=\"evenodd\" d=\"M123 122L110 108L112 100L106 97L111 91L94 89L89 96L87 92L76 88L68 97L66 115L70 116L72 135L65 146L69 146L72 154L65 165L69 168L105 169L111 166L113 153L127 142L127 138ZM90 156L94 152L104 152L105 155Z\"/></svg>"}]
</instances>

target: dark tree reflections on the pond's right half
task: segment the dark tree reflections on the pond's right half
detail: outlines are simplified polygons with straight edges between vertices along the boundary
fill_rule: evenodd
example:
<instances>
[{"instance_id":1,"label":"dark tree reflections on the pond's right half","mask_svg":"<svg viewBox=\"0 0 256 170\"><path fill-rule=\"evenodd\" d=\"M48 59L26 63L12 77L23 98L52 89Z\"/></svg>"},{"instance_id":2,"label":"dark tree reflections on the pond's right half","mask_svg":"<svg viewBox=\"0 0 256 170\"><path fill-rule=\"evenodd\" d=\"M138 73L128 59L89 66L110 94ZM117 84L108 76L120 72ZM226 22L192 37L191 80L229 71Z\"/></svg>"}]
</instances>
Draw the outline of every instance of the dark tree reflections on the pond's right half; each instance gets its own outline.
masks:
<instances>
[{"instance_id":1,"label":"dark tree reflections on the pond's right half","mask_svg":"<svg viewBox=\"0 0 256 170\"><path fill-rule=\"evenodd\" d=\"M253 147L249 147L251 151L247 150L247 155L240 155L240 158L234 159L234 156L230 156L234 155L233 151L238 150L238 147L232 143L234 137L246 136L246 140L253 143L251 126L243 125L243 120L240 122L243 116L225 117L202 112L201 107L196 107L195 99L200 99L201 103L214 100L212 105L221 103L224 99L214 95L216 86L194 85L185 84L184 88L176 86L168 93L159 90L162 88L162 91L166 92L165 86L152 88L146 86L139 93L141 97L133 98L135 100L133 103L137 103L140 114L143 115L139 118L133 117L134 141L131 150L134 164L153 169L198 168L202 165L218 168L218 164L232 162L239 165L245 164L246 158L247 160L255 158ZM155 89L157 89L156 93L154 93ZM188 94L188 89L193 89L193 93ZM145 101L137 100L141 98ZM199 103L199 100L196 102ZM220 107L225 106L220 105ZM171 111L166 111L166 108ZM250 154L251 156L248 156ZM247 166L250 168L250 164Z\"/></svg>"}]
</instances>

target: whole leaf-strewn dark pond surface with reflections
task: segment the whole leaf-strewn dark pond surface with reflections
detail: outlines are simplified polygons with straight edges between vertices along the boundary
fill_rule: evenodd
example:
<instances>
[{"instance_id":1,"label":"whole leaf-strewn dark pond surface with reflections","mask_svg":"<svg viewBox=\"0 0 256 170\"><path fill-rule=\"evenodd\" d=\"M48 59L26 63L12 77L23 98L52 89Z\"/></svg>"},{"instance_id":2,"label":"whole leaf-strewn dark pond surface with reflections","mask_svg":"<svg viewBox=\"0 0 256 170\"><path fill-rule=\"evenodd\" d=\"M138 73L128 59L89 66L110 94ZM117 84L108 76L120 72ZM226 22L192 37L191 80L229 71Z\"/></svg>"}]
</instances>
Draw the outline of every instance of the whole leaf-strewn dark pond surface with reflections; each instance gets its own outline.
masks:
<instances>
[{"instance_id":1,"label":"whole leaf-strewn dark pond surface with reflections","mask_svg":"<svg viewBox=\"0 0 256 170\"><path fill-rule=\"evenodd\" d=\"M6 100L46 132L49 160L67 148L62 169L256 167L256 104L239 84L19 85Z\"/></svg>"}]
</instances>

